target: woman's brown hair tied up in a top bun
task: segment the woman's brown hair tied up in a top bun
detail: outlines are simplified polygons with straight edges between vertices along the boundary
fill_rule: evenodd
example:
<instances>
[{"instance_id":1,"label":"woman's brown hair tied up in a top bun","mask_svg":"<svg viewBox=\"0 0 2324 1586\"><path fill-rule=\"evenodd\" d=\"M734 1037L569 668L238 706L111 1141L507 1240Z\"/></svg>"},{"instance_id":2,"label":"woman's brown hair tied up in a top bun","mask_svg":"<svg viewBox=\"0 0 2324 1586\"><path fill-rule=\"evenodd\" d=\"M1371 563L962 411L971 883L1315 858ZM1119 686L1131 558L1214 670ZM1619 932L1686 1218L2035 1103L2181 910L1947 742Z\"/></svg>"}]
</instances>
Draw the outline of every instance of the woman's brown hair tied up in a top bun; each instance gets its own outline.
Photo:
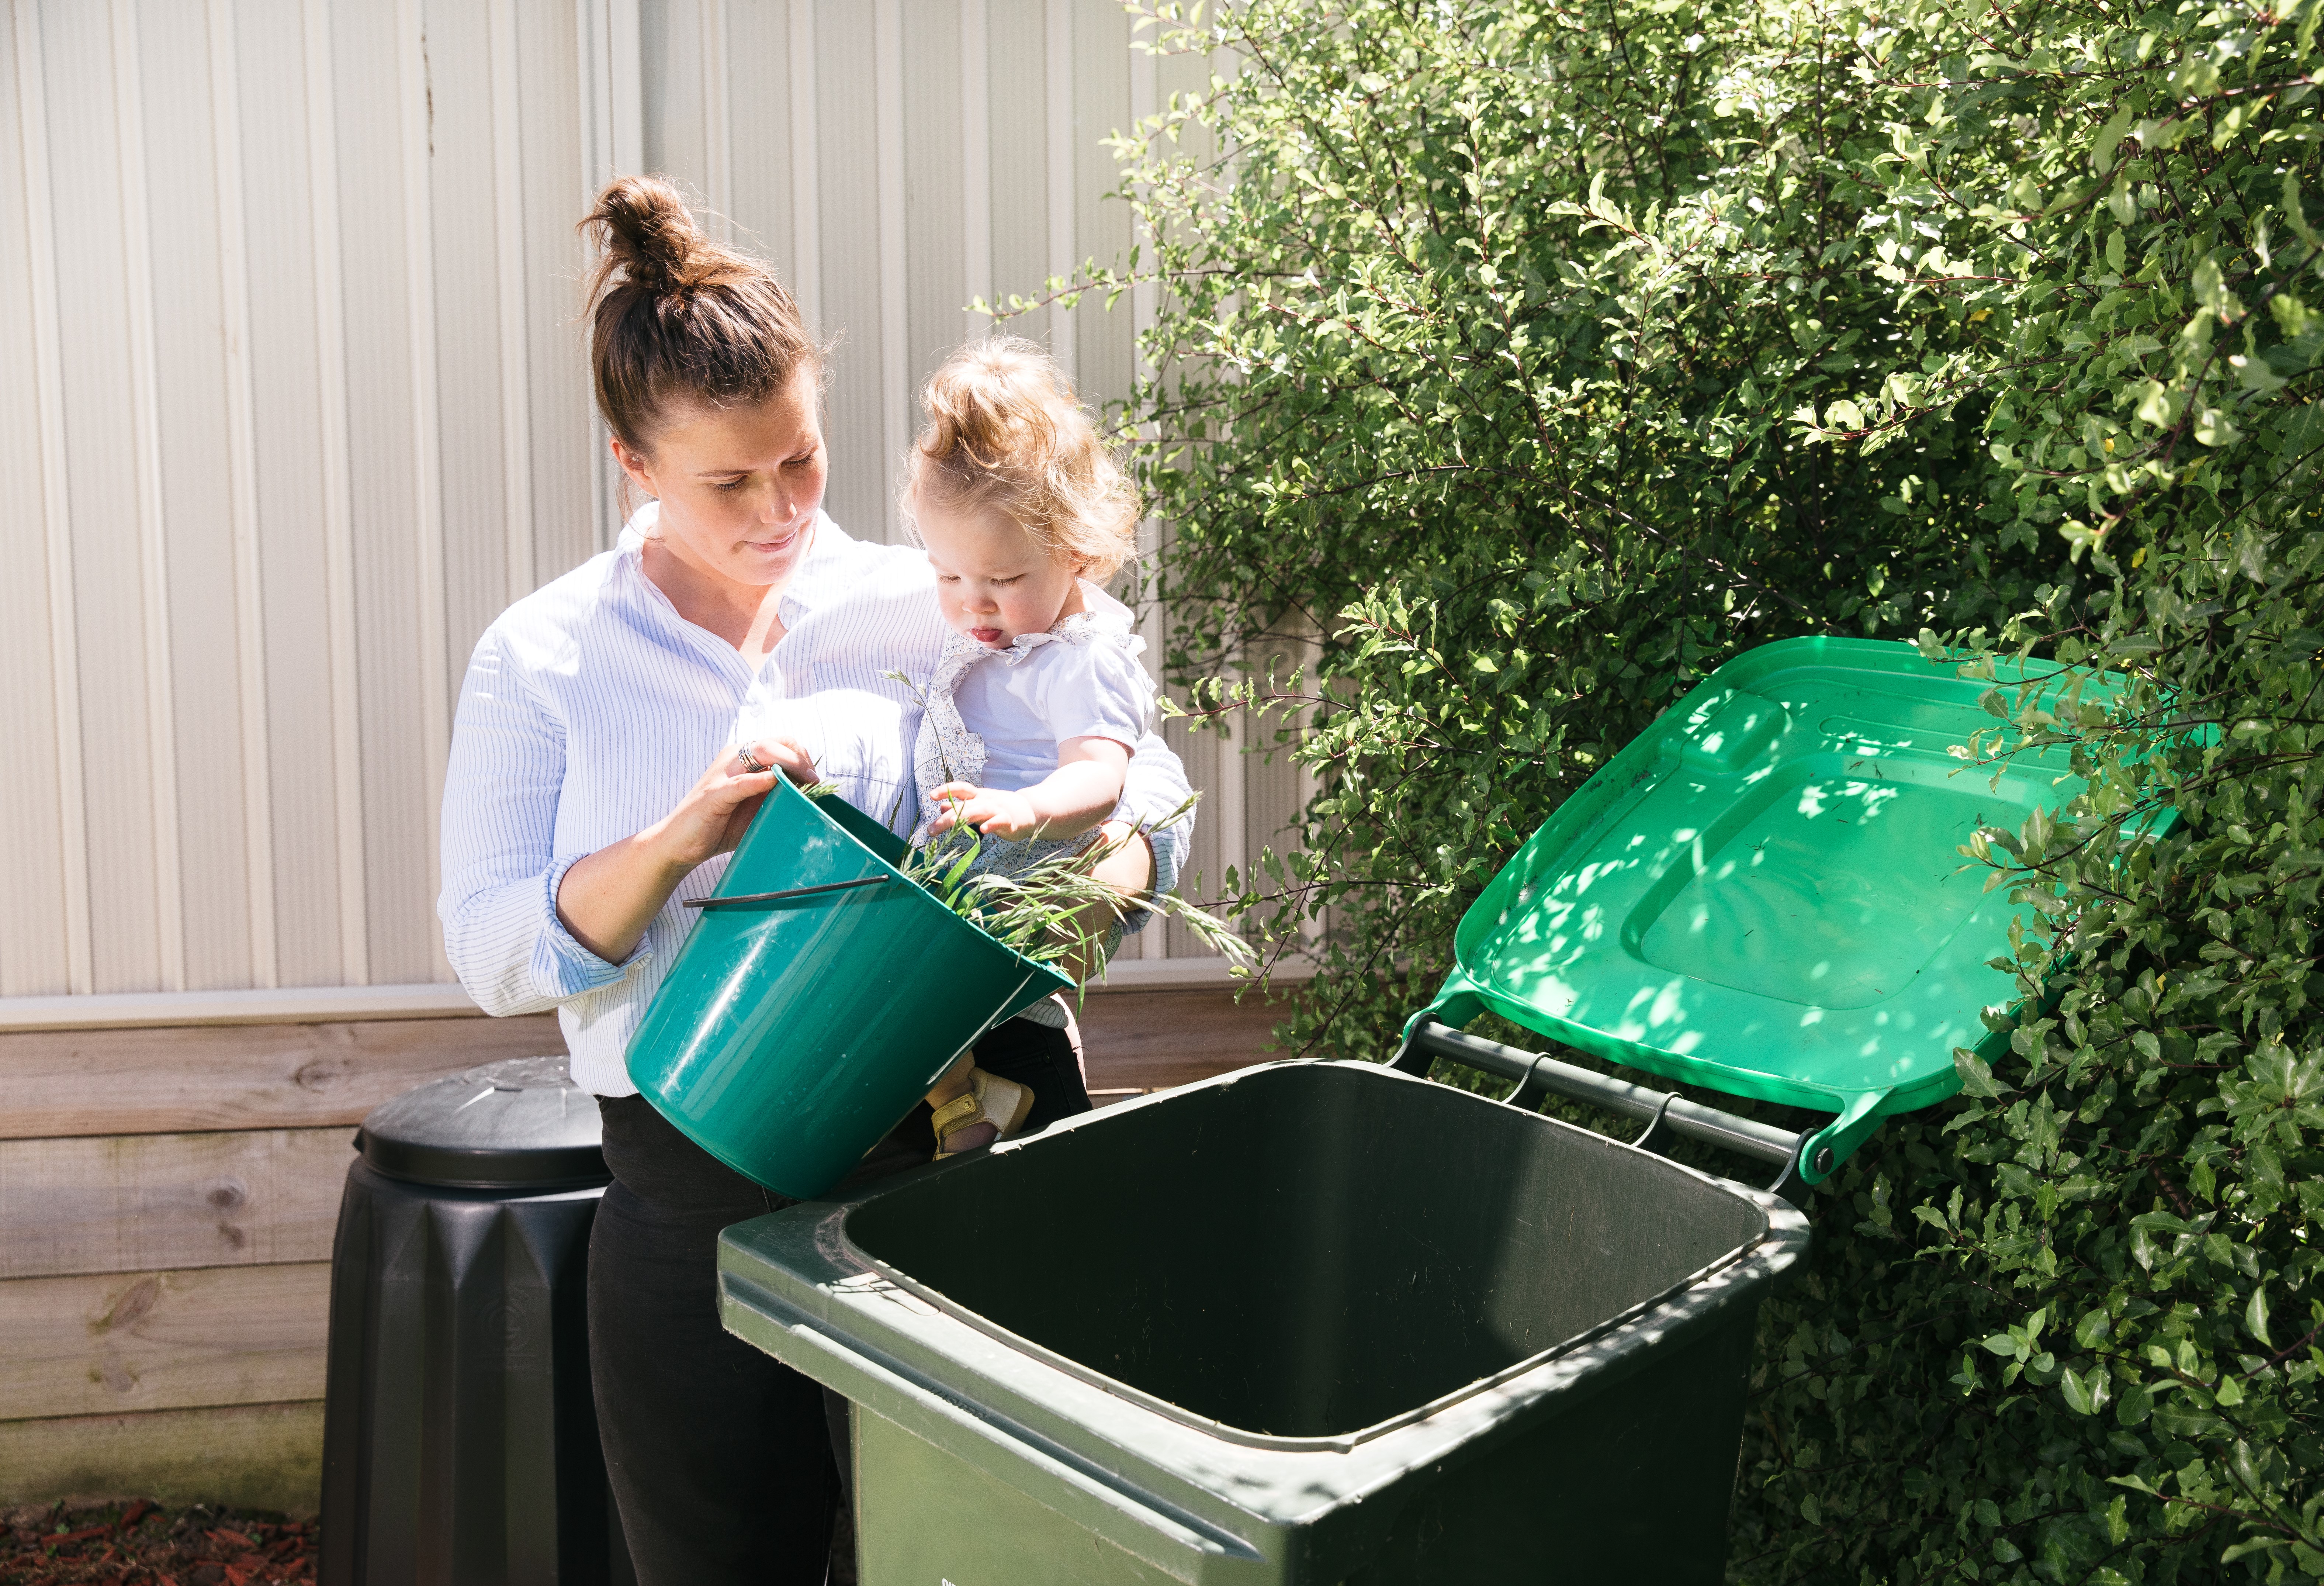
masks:
<instances>
[{"instance_id":1,"label":"woman's brown hair tied up in a top bun","mask_svg":"<svg viewBox=\"0 0 2324 1586\"><path fill-rule=\"evenodd\" d=\"M660 177L616 177L581 230L602 251L588 284L597 412L653 449L672 402L765 402L823 347L765 263L704 235Z\"/></svg>"}]
</instances>

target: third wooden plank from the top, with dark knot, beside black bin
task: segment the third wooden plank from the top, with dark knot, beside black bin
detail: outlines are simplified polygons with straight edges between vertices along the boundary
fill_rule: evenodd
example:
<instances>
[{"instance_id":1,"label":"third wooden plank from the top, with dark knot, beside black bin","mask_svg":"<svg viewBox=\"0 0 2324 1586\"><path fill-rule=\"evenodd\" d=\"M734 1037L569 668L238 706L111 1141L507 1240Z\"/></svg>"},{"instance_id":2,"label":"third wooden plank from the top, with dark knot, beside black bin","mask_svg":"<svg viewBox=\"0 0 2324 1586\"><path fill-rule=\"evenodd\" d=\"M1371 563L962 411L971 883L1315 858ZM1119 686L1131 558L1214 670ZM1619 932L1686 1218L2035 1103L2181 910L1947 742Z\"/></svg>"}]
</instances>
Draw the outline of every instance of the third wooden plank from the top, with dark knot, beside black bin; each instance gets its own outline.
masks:
<instances>
[{"instance_id":1,"label":"third wooden plank from the top, with dark knot, beside black bin","mask_svg":"<svg viewBox=\"0 0 2324 1586\"><path fill-rule=\"evenodd\" d=\"M0 1421L323 1398L330 1263L0 1284Z\"/></svg>"}]
</instances>

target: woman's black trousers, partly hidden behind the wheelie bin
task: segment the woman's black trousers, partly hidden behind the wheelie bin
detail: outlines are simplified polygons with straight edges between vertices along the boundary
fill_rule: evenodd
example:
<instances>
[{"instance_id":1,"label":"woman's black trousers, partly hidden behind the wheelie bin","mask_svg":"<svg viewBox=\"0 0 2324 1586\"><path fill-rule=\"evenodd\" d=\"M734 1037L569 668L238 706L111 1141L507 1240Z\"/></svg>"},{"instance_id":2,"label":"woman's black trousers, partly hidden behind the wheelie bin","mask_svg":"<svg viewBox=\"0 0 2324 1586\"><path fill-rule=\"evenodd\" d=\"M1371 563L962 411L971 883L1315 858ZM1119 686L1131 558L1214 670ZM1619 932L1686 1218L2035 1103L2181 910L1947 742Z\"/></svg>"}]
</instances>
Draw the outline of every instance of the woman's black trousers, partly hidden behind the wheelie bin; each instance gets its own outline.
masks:
<instances>
[{"instance_id":1,"label":"woman's black trousers, partly hidden behind the wheelie bin","mask_svg":"<svg viewBox=\"0 0 2324 1586\"><path fill-rule=\"evenodd\" d=\"M1090 1109L1064 1030L1011 1019L976 1063L1030 1084L1030 1128ZM792 1205L641 1095L600 1098L614 1170L588 1246L588 1349L607 1479L639 1586L823 1586L841 1460L823 1388L718 1326L718 1230ZM841 1186L925 1163L923 1102Z\"/></svg>"}]
</instances>

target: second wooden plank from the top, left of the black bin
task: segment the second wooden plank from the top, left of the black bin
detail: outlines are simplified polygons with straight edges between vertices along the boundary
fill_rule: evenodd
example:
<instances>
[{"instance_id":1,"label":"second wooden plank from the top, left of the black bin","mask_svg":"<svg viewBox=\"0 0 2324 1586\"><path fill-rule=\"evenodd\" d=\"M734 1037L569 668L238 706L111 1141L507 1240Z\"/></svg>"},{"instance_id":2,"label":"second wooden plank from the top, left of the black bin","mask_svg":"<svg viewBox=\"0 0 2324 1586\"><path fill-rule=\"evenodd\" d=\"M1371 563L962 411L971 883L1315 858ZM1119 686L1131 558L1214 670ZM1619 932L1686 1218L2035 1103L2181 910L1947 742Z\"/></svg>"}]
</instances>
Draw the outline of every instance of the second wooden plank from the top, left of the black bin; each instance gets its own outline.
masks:
<instances>
[{"instance_id":1,"label":"second wooden plank from the top, left of the black bin","mask_svg":"<svg viewBox=\"0 0 2324 1586\"><path fill-rule=\"evenodd\" d=\"M344 1128L0 1142L0 1277L325 1260Z\"/></svg>"}]
</instances>

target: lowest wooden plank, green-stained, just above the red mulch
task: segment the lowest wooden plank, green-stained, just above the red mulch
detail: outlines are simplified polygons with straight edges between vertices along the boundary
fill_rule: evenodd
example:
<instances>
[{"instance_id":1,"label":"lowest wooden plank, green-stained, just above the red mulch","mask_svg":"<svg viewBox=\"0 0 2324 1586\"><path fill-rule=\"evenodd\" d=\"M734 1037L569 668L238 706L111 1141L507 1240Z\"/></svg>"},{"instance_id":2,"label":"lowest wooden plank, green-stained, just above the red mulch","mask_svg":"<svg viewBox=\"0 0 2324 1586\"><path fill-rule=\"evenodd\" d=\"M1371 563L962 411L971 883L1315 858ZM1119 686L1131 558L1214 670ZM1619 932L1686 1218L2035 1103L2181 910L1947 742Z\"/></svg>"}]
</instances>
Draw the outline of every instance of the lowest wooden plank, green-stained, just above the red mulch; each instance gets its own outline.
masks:
<instances>
[{"instance_id":1,"label":"lowest wooden plank, green-stained, just above the red mulch","mask_svg":"<svg viewBox=\"0 0 2324 1586\"><path fill-rule=\"evenodd\" d=\"M0 1505L158 1498L314 1514L323 1402L0 1421Z\"/></svg>"}]
</instances>

